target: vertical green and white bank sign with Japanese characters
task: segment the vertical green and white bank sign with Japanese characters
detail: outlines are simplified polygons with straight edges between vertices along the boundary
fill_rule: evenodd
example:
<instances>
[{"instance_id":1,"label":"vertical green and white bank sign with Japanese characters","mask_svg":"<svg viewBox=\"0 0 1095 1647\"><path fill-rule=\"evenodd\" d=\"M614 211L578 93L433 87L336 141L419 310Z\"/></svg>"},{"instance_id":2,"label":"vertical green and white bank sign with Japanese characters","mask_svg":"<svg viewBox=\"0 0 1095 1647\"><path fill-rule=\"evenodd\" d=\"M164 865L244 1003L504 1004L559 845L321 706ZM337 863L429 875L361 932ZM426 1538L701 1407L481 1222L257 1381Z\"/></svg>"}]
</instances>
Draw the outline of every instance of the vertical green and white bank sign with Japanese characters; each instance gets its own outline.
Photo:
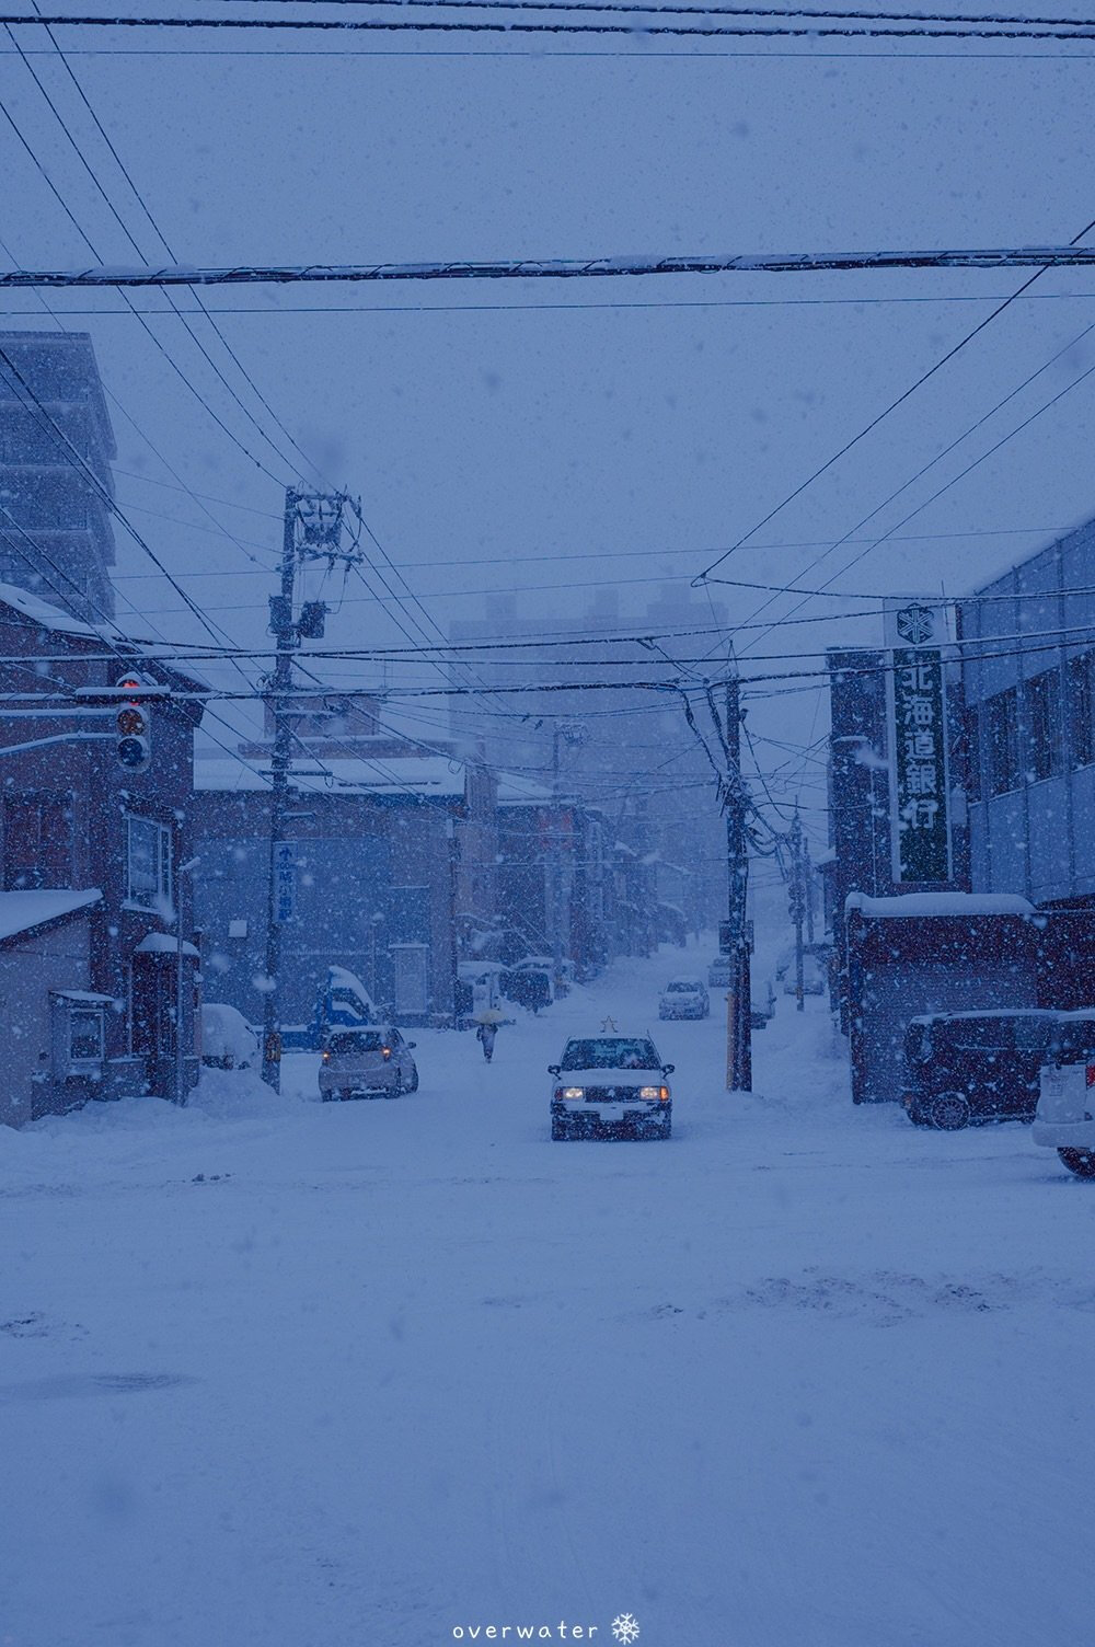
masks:
<instances>
[{"instance_id":1,"label":"vertical green and white bank sign with Japanese characters","mask_svg":"<svg viewBox=\"0 0 1095 1647\"><path fill-rule=\"evenodd\" d=\"M886 603L892 875L901 884L950 881L947 608Z\"/></svg>"}]
</instances>

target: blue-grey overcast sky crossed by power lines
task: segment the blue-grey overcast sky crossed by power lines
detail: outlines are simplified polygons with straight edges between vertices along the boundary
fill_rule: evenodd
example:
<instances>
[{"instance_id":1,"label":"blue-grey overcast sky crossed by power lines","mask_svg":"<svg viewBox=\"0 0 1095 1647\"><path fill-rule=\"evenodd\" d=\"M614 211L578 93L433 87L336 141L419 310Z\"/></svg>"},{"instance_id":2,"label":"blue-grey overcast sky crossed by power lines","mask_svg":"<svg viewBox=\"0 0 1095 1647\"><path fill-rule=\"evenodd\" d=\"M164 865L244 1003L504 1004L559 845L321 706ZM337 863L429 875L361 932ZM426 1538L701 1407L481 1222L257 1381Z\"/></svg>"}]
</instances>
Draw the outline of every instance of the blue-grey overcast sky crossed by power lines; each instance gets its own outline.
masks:
<instances>
[{"instance_id":1,"label":"blue-grey overcast sky crossed by power lines","mask_svg":"<svg viewBox=\"0 0 1095 1647\"><path fill-rule=\"evenodd\" d=\"M18 38L41 53L30 61L142 255L163 259L49 40L38 30ZM71 68L186 264L1062 244L1095 217L1093 53L1083 46L812 41L774 51L650 48L636 36L538 51L491 36L334 46L224 31L58 38L76 48ZM142 54L147 44L158 51ZM0 94L94 245L2 124L0 239L12 260L137 262L7 36ZM624 618L660 585L687 588L1027 277L250 287L206 301L224 311L224 338L313 473L361 494L375 539L446 626L476 616L492 590L527 590L524 609L565 619L594 585L619 586ZM10 298L5 324L53 324L31 293ZM263 644L265 568L293 479L287 456L298 458L290 441L203 316L198 334L255 422L161 313L158 293L132 301L151 311L161 349L115 293L48 301L94 339L114 397L123 507L234 639ZM188 293L176 301L194 306ZM866 595L960 593L1085 519L1088 326L1095 273L1044 275L721 572L746 583L799 576L807 588L841 573L833 590ZM879 504L861 542L830 548ZM123 621L137 626L135 608L166 636L201 634L122 530L117 570ZM777 596L759 613L764 593L715 593L743 624L802 601ZM344 595L333 639L402 642L361 583ZM706 600L693 598L701 618ZM802 654L878 641L879 618L840 616L876 604L810 600L794 616L812 623L743 629L739 652L777 654L749 665L757 672L807 667ZM698 657L710 637L675 646ZM445 712L433 703L420 716L426 730ZM757 697L751 725L805 744L827 728L827 698ZM766 749L769 769L789 759ZM802 786L818 840L820 776L792 758L776 777L779 796Z\"/></svg>"}]
</instances>

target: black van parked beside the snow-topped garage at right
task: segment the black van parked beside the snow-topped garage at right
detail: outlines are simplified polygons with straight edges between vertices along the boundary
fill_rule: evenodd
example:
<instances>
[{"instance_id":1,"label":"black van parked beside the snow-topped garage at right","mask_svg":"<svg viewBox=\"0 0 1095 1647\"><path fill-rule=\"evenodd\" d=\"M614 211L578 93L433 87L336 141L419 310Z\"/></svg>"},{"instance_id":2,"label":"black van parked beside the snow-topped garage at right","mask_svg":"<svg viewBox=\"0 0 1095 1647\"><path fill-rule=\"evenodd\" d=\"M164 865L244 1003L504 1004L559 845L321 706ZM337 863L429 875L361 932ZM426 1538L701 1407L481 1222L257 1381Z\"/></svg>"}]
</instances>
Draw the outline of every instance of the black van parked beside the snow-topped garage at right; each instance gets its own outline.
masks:
<instances>
[{"instance_id":1,"label":"black van parked beside the snow-topped garage at right","mask_svg":"<svg viewBox=\"0 0 1095 1647\"><path fill-rule=\"evenodd\" d=\"M932 1013L906 1029L901 1102L917 1127L1032 1120L1059 1013Z\"/></svg>"}]
</instances>

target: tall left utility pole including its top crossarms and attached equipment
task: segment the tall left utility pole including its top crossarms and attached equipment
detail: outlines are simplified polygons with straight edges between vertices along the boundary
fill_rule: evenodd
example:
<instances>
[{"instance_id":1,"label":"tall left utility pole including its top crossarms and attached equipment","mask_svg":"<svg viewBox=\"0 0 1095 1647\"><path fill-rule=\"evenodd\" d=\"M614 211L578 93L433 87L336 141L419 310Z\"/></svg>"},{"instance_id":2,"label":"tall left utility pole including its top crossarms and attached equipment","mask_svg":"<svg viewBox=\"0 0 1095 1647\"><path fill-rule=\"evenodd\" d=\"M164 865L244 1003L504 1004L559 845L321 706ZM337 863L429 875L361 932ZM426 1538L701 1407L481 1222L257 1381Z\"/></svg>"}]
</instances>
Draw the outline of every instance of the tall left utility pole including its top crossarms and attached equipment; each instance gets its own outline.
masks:
<instances>
[{"instance_id":1,"label":"tall left utility pole including its top crossarms and attached equipment","mask_svg":"<svg viewBox=\"0 0 1095 1647\"><path fill-rule=\"evenodd\" d=\"M291 884L295 871L283 863L285 814L288 805L288 772L293 749L293 652L301 641L323 636L326 606L303 601L295 616L296 568L305 560L356 558L341 547L346 509L361 512L346 492L285 491L282 529L282 591L270 596L270 631L277 639L273 674L267 682L265 702L273 720L270 753L270 876L267 883L267 965L262 1010L262 1079L275 1092L282 1085L282 927L291 919ZM291 871L291 873L290 873ZM290 891L287 891L290 889Z\"/></svg>"}]
</instances>

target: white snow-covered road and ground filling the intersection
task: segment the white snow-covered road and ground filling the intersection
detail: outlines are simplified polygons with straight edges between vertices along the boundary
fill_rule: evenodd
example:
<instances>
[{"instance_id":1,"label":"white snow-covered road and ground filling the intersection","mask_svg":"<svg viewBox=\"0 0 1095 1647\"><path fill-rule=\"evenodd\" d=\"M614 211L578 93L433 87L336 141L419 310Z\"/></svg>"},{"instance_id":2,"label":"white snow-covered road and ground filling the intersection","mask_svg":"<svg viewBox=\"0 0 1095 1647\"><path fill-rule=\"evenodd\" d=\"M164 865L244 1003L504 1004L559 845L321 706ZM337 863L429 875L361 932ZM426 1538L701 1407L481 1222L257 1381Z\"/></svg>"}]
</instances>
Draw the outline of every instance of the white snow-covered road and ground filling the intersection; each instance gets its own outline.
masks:
<instances>
[{"instance_id":1,"label":"white snow-covered road and ground filling the intersection","mask_svg":"<svg viewBox=\"0 0 1095 1647\"><path fill-rule=\"evenodd\" d=\"M489 1067L418 1033L397 1102L295 1057L0 1128L3 1647L1087 1647L1095 1189L853 1108L817 1000L728 1095L657 1023L698 959ZM548 1141L609 1013L670 1143Z\"/></svg>"}]
</instances>

